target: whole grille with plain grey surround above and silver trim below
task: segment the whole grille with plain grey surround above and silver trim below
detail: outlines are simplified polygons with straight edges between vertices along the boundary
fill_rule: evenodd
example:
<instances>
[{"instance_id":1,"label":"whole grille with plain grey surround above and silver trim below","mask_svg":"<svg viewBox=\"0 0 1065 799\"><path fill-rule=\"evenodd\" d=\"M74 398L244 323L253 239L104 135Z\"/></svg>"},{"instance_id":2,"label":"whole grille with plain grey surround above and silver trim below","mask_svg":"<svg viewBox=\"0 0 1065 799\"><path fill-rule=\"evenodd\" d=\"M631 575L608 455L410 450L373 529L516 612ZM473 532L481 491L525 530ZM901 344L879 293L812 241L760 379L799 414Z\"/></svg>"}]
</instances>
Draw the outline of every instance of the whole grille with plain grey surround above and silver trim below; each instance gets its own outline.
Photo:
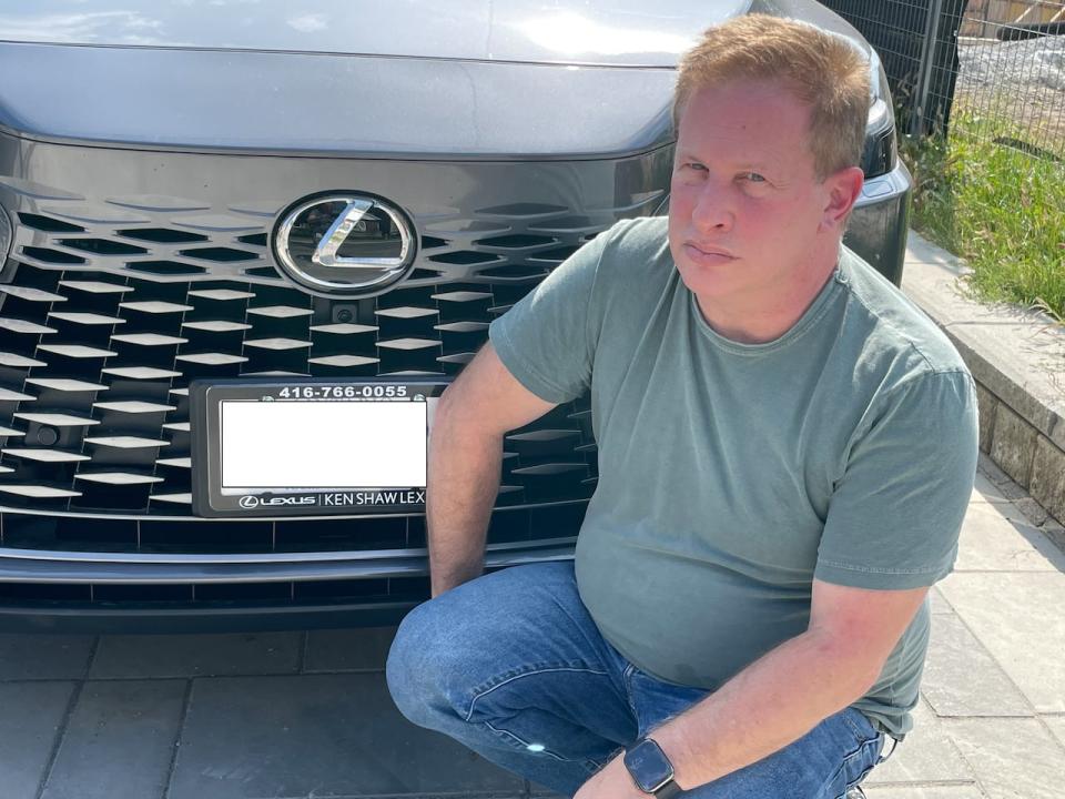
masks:
<instances>
[{"instance_id":1,"label":"whole grille with plain grey surround above and silver trim below","mask_svg":"<svg viewBox=\"0 0 1065 799\"><path fill-rule=\"evenodd\" d=\"M455 375L489 323L581 244L662 204L671 152L90 159L0 134L0 163L19 170L0 171L12 223L0 264L0 610L194 609L410 604L427 588L424 514L192 515L191 381ZM136 193L145 185L165 193ZM234 200L245 185L256 199ZM274 266L284 209L337 188L413 219L416 261L398 286L333 300ZM587 397L513 432L504 451L488 567L568 556L598 476Z\"/></svg>"}]
</instances>

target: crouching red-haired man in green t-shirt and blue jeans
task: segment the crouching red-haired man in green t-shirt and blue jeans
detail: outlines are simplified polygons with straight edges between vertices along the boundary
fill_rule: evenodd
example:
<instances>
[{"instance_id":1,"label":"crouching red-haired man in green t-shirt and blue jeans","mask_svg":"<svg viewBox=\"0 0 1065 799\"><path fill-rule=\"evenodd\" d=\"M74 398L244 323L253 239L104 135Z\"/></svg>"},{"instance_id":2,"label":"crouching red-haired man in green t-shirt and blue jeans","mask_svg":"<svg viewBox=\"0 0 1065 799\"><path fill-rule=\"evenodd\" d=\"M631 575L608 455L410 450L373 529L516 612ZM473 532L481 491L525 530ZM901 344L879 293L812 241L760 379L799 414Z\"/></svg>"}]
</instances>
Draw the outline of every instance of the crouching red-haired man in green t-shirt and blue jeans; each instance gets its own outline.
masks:
<instances>
[{"instance_id":1,"label":"crouching red-haired man in green t-shirt and blue jeans","mask_svg":"<svg viewBox=\"0 0 1065 799\"><path fill-rule=\"evenodd\" d=\"M430 447L413 721L579 799L838 799L901 739L976 458L972 378L841 247L868 64L746 17L680 69L668 224L619 223L497 320ZM503 435L590 387L575 566L478 577Z\"/></svg>"}]
</instances>

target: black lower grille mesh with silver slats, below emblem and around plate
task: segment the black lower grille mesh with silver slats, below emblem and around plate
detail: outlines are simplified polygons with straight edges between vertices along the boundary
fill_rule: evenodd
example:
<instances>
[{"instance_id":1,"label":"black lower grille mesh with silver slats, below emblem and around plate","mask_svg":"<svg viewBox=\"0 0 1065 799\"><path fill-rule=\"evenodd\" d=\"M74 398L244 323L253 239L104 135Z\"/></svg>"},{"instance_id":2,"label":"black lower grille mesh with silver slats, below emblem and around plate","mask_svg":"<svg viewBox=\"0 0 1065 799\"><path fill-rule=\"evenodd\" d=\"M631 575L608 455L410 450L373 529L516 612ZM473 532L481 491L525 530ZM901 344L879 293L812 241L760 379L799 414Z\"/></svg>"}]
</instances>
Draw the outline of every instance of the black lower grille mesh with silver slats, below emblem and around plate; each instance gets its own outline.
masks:
<instances>
[{"instance_id":1,"label":"black lower grille mesh with silver slats, below emblem and around plate","mask_svg":"<svg viewBox=\"0 0 1065 799\"><path fill-rule=\"evenodd\" d=\"M331 303L290 287L21 264L17 287L0 286L3 503L187 514L190 381L454 374L529 285L399 289L344 323ZM576 406L509 436L500 503L587 496L590 441Z\"/></svg>"}]
</instances>

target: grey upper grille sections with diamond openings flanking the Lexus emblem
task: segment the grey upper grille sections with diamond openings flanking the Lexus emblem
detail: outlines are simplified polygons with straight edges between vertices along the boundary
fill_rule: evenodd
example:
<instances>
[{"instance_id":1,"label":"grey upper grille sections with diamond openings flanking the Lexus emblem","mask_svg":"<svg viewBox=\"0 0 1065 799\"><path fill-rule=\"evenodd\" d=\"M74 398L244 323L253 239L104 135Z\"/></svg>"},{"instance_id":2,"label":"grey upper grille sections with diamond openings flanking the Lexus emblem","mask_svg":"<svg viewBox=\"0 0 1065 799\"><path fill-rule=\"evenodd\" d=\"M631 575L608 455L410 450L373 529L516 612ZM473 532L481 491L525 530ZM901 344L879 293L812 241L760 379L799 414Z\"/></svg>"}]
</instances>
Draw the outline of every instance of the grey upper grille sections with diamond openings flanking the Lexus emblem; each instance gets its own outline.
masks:
<instances>
[{"instance_id":1,"label":"grey upper grille sections with diamond openings flanking the Lexus emblem","mask_svg":"<svg viewBox=\"0 0 1065 799\"><path fill-rule=\"evenodd\" d=\"M637 198L637 208L661 194ZM273 212L234 206L210 214L193 201L140 196L103 206L52 199L48 208L47 214L18 213L16 252L24 264L153 283L291 286L266 252ZM405 285L535 281L627 210L575 214L561 205L511 203L423 220L419 269Z\"/></svg>"}]
</instances>

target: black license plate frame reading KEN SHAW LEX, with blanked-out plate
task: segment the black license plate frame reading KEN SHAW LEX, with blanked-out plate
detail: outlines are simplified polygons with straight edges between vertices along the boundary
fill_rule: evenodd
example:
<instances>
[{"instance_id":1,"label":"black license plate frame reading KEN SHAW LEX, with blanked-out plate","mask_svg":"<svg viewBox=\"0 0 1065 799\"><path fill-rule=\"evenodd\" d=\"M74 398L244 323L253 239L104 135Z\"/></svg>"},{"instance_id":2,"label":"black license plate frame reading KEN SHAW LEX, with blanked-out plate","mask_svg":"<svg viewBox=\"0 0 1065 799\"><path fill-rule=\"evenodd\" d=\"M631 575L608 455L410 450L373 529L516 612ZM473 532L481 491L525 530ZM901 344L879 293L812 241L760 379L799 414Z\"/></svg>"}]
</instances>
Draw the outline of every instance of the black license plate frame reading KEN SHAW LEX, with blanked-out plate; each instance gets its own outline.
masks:
<instances>
[{"instance_id":1,"label":"black license plate frame reading KEN SHAW LEX, with blanked-out plate","mask_svg":"<svg viewBox=\"0 0 1065 799\"><path fill-rule=\"evenodd\" d=\"M189 386L193 514L284 518L424 513L428 435L448 383L403 376L194 381ZM294 425L307 433L294 437ZM376 449L356 444L361 433ZM398 453L386 452L393 433ZM369 473L382 479L374 485L366 479ZM322 485L325 481L331 484Z\"/></svg>"}]
</instances>

